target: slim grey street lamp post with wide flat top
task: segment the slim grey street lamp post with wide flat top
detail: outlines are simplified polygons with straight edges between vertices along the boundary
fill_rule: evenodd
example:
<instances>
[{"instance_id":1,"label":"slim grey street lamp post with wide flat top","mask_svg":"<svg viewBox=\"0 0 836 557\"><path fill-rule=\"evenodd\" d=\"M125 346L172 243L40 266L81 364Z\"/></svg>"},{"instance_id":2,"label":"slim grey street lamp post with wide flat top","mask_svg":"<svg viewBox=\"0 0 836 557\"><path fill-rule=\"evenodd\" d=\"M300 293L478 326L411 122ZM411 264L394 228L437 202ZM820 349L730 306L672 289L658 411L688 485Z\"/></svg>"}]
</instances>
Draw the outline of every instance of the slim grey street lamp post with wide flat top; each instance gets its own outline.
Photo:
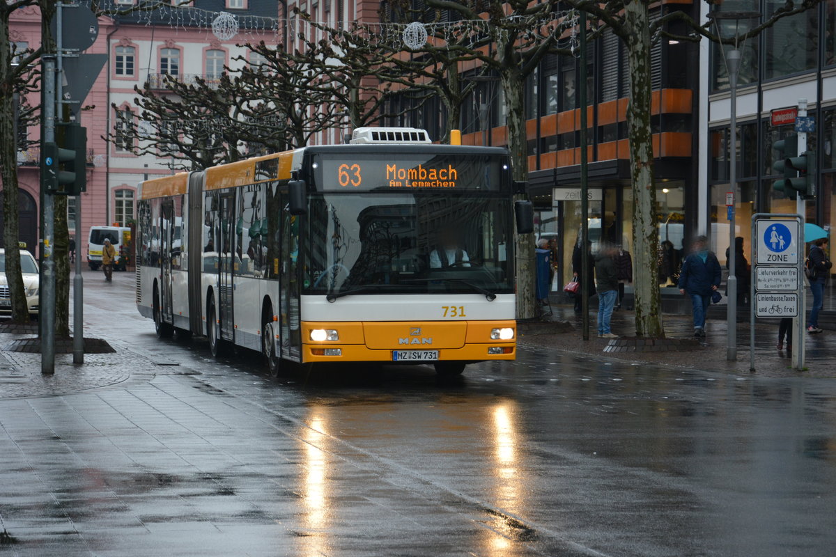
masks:
<instances>
[{"instance_id":1,"label":"slim grey street lamp post with wide flat top","mask_svg":"<svg viewBox=\"0 0 836 557\"><path fill-rule=\"evenodd\" d=\"M722 41L719 45L723 60L726 63L726 73L729 76L730 89L730 141L729 141L729 189L732 192L732 208L729 210L729 257L727 261L729 276L727 287L726 330L727 347L726 360L737 360L737 251L735 250L735 235L737 234L737 76L740 73L742 48L746 43L746 33L752 28L752 23L760 18L756 11L722 11L717 9L709 17L714 20L716 35ZM726 50L724 45L728 45Z\"/></svg>"}]
</instances>

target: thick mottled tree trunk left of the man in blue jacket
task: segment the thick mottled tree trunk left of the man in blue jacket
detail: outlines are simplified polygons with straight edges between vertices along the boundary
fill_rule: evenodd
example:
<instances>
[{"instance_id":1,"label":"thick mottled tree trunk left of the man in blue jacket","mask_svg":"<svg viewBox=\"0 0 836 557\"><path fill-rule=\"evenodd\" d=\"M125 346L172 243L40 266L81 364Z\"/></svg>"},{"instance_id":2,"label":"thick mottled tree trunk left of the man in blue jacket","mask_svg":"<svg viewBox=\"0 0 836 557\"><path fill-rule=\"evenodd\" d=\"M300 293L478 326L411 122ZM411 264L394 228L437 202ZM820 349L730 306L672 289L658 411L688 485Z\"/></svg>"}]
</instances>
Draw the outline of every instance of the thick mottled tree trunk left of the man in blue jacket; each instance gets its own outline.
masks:
<instances>
[{"instance_id":1,"label":"thick mottled tree trunk left of the man in blue jacket","mask_svg":"<svg viewBox=\"0 0 836 557\"><path fill-rule=\"evenodd\" d=\"M653 175L653 134L650 129L650 17L647 0L624 4L624 31L630 66L630 177L633 184L633 264L635 332L638 337L664 338L656 274L659 229Z\"/></svg>"}]
</instances>

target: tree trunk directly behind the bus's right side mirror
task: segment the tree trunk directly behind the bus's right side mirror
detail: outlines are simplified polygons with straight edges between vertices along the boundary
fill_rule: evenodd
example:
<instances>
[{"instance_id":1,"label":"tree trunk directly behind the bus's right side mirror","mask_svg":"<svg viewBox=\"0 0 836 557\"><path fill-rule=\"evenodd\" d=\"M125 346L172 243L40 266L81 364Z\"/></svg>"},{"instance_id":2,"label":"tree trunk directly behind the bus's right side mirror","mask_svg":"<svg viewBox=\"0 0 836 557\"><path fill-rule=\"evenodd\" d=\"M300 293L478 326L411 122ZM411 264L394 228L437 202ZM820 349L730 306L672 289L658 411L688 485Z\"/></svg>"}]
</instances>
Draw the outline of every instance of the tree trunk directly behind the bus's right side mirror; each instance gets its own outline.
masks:
<instances>
[{"instance_id":1,"label":"tree trunk directly behind the bus's right side mirror","mask_svg":"<svg viewBox=\"0 0 836 557\"><path fill-rule=\"evenodd\" d=\"M511 152L511 170L514 180L528 179L528 138L525 129L525 105L523 104L522 76L515 68L501 72L502 89L507 104L508 150ZM517 319L537 316L534 300L534 242L529 234L515 234L517 254Z\"/></svg>"}]
</instances>

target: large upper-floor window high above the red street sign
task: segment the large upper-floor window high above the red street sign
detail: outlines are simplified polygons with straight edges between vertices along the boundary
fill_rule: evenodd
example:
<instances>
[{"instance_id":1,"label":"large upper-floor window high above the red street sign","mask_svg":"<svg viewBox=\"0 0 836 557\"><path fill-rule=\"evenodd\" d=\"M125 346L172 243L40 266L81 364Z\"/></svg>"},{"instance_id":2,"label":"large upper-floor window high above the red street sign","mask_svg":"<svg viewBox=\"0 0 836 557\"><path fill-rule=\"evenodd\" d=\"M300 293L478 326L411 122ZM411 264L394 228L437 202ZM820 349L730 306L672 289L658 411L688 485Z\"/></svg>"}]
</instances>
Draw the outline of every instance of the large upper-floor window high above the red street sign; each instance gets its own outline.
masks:
<instances>
[{"instance_id":1,"label":"large upper-floor window high above the red street sign","mask_svg":"<svg viewBox=\"0 0 836 557\"><path fill-rule=\"evenodd\" d=\"M767 13L784 7L781 0L767 0ZM763 77L780 78L816 68L818 10L782 18L764 31Z\"/></svg>"}]
</instances>

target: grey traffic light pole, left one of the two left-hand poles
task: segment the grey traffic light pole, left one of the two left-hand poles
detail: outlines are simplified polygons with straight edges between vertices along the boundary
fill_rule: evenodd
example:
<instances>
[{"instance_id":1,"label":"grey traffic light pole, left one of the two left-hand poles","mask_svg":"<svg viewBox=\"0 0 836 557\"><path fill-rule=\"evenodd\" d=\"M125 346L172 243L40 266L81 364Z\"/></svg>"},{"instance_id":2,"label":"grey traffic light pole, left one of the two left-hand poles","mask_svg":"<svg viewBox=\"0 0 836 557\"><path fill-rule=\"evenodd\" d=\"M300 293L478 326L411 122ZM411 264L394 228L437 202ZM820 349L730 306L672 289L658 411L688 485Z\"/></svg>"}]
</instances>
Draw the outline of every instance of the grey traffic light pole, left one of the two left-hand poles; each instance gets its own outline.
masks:
<instances>
[{"instance_id":1,"label":"grey traffic light pole, left one of the two left-hand poles","mask_svg":"<svg viewBox=\"0 0 836 557\"><path fill-rule=\"evenodd\" d=\"M44 55L43 60L43 143L55 142L55 55ZM48 161L47 165L58 165ZM42 170L43 172L43 170ZM54 236L53 194L43 195L43 281L40 284L41 373L55 372L55 261L52 256Z\"/></svg>"}]
</instances>

